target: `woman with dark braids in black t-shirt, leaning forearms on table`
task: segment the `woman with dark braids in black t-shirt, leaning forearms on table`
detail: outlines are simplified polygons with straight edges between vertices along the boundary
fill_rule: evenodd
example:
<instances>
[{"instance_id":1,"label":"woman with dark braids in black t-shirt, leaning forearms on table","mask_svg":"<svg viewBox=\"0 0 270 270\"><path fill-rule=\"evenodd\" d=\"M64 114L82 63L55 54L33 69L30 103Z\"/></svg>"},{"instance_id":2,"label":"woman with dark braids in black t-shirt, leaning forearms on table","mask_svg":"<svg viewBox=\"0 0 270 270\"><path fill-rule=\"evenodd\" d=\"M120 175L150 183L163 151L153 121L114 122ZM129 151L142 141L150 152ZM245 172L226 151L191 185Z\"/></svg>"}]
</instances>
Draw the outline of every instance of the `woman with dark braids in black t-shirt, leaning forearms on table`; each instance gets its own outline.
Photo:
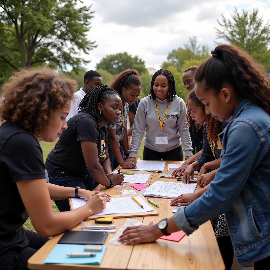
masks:
<instances>
[{"instance_id":1,"label":"woman with dark braids in black t-shirt, leaning forearms on table","mask_svg":"<svg viewBox=\"0 0 270 270\"><path fill-rule=\"evenodd\" d=\"M120 119L121 99L107 85L88 92L79 105L80 112L68 121L59 141L45 161L49 181L65 187L93 190L95 180L105 186L119 185L124 175L113 174L105 125ZM56 200L59 211L69 210L67 200Z\"/></svg>"}]
</instances>

